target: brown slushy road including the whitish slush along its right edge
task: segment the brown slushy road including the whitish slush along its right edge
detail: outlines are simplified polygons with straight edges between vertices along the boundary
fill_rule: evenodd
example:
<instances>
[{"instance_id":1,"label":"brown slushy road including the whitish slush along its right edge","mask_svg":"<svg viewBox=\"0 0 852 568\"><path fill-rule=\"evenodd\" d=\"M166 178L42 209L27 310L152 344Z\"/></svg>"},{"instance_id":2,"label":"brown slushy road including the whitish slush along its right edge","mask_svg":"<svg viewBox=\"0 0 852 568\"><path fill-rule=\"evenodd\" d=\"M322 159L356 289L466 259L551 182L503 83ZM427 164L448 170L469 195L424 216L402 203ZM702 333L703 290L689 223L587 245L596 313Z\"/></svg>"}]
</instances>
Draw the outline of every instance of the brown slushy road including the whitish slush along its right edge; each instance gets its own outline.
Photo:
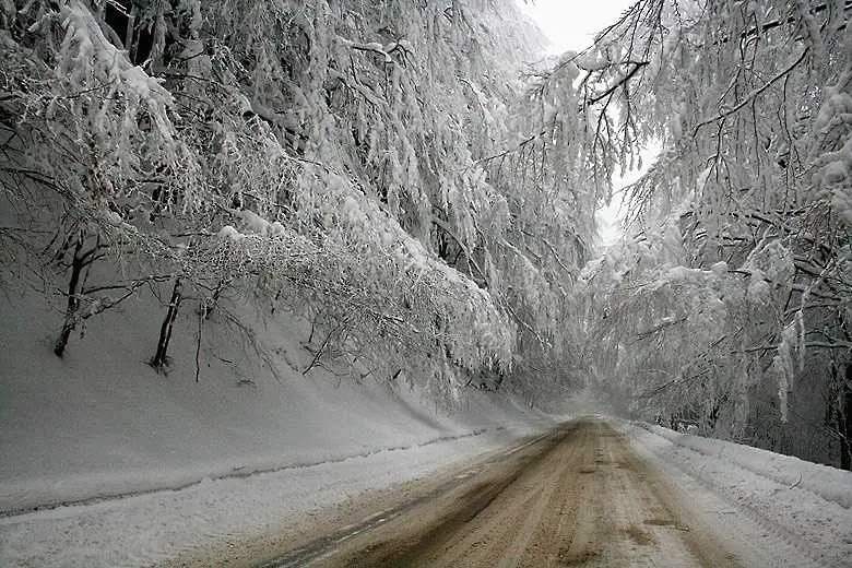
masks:
<instances>
[{"instance_id":1,"label":"brown slushy road including the whitish slush along its right edge","mask_svg":"<svg viewBox=\"0 0 852 568\"><path fill-rule=\"evenodd\" d=\"M572 421L164 568L852 567L830 539L833 552L631 440Z\"/></svg>"}]
</instances>

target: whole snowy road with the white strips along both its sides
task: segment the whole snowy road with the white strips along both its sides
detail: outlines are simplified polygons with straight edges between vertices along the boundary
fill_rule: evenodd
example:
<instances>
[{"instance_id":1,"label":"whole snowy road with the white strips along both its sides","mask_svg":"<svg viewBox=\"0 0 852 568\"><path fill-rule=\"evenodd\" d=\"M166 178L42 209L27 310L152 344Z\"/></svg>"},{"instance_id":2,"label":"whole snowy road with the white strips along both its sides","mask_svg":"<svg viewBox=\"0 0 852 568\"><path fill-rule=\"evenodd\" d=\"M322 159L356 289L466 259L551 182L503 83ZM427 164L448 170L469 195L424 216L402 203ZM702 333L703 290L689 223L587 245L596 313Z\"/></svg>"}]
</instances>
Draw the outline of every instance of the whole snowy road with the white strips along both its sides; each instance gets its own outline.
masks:
<instances>
[{"instance_id":1,"label":"whole snowy road with the white strips along both its sides","mask_svg":"<svg viewBox=\"0 0 852 568\"><path fill-rule=\"evenodd\" d=\"M600 417L485 438L0 517L0 566L852 566L849 472Z\"/></svg>"}]
</instances>

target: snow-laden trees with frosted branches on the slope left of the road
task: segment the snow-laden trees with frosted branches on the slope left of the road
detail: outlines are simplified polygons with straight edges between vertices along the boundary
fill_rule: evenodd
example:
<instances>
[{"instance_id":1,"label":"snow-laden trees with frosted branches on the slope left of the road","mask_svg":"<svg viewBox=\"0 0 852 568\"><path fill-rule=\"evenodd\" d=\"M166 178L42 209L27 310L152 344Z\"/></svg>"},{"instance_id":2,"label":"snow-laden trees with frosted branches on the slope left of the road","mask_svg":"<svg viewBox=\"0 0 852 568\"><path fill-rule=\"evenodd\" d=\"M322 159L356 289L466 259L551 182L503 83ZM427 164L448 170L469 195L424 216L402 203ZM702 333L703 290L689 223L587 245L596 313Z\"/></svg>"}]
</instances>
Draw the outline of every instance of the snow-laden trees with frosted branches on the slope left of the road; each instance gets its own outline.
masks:
<instances>
[{"instance_id":1,"label":"snow-laden trees with frosted branches on the slope left of the road","mask_svg":"<svg viewBox=\"0 0 852 568\"><path fill-rule=\"evenodd\" d=\"M2 248L60 283L57 354L149 287L157 368L187 304L199 338L236 303L286 308L318 357L449 393L565 343L592 213L561 158L495 157L528 134L524 22L509 0L4 3Z\"/></svg>"}]
</instances>

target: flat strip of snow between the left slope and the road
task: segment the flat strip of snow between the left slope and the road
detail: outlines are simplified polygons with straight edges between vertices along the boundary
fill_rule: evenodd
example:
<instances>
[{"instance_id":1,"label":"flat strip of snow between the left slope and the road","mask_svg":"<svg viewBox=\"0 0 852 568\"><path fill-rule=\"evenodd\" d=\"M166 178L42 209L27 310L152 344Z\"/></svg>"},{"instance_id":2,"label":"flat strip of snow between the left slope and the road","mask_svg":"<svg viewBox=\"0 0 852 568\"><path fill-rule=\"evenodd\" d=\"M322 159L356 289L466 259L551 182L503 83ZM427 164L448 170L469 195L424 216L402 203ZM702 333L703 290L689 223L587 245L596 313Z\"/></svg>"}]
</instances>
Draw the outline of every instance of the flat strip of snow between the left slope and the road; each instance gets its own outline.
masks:
<instances>
[{"instance_id":1,"label":"flat strip of snow between the left slope and the road","mask_svg":"<svg viewBox=\"0 0 852 568\"><path fill-rule=\"evenodd\" d=\"M176 492L0 518L0 565L150 566L223 542L284 533L306 514L347 497L425 476L519 435L500 430L308 468L205 480Z\"/></svg>"}]
</instances>

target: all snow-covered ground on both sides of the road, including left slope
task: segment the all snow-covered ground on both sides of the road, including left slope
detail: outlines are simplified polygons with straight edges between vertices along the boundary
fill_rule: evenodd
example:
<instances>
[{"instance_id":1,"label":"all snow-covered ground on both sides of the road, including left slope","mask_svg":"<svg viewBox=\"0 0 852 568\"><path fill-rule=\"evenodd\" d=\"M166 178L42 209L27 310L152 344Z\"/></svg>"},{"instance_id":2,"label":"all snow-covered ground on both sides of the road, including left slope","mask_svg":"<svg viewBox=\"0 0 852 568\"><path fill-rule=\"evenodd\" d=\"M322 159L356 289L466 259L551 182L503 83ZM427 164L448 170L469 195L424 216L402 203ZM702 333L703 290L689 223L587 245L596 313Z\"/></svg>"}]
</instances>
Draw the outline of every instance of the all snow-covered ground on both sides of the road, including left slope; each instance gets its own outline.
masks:
<instances>
[{"instance_id":1,"label":"all snow-covered ground on both sides of the road, including left slope","mask_svg":"<svg viewBox=\"0 0 852 568\"><path fill-rule=\"evenodd\" d=\"M211 327L196 383L191 317L176 329L171 371L157 375L144 362L162 311L150 299L128 304L93 320L58 359L59 315L27 294L0 299L0 566L151 566L287 532L565 417L483 391L448 411L404 384L322 368L303 376L311 355L297 323L262 328L277 379ZM721 496L776 541L852 565L852 474L622 428L646 458L681 472L697 500Z\"/></svg>"}]
</instances>

